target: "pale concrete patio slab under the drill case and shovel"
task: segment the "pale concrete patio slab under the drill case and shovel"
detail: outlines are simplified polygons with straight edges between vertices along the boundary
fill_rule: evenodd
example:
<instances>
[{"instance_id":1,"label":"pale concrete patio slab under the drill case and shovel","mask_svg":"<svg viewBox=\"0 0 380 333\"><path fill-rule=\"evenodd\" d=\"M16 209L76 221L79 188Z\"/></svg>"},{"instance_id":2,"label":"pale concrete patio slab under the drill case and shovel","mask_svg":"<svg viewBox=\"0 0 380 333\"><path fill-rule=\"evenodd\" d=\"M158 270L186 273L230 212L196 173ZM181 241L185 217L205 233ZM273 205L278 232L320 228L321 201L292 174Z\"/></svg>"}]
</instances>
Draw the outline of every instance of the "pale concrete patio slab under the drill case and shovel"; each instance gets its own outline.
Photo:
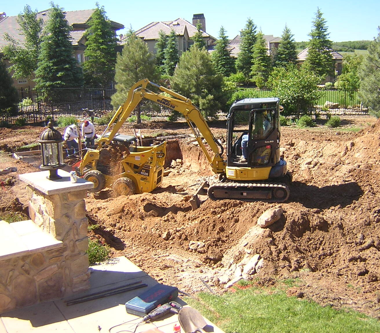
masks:
<instances>
[{"instance_id":1,"label":"pale concrete patio slab under the drill case and shovel","mask_svg":"<svg viewBox=\"0 0 380 333\"><path fill-rule=\"evenodd\" d=\"M139 281L147 284L147 287L70 306L65 303L69 299L62 299L7 312L0 317L0 332L133 332L136 325L141 322L141 318L128 314L125 309L125 303L141 295L158 282L125 257L111 259L106 264L95 265L90 269L92 270L90 290L71 297L71 300ZM175 301L186 306L186 303L180 298ZM220 328L207 319L206 322L208 324L207 331L223 333ZM137 325L135 332L140 333L158 327L164 333L172 333L173 326L177 323L178 317L176 314L168 315L163 319L154 321L152 324Z\"/></svg>"}]
</instances>

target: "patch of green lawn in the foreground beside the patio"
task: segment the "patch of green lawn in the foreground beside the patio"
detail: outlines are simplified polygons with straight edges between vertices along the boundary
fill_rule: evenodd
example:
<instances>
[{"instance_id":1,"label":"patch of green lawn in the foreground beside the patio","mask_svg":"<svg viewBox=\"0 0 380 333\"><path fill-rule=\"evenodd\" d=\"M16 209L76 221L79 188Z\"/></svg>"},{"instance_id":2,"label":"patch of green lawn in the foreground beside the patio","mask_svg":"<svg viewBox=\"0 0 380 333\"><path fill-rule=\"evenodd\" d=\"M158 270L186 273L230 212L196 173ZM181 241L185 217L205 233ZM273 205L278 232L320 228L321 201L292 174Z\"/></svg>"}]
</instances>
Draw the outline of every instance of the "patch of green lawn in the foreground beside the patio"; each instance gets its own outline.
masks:
<instances>
[{"instance_id":1,"label":"patch of green lawn in the foreground beside the patio","mask_svg":"<svg viewBox=\"0 0 380 333\"><path fill-rule=\"evenodd\" d=\"M234 292L223 295L200 293L198 301L193 298L185 301L226 333L380 332L379 320L287 297L281 289L234 288Z\"/></svg>"}]
</instances>

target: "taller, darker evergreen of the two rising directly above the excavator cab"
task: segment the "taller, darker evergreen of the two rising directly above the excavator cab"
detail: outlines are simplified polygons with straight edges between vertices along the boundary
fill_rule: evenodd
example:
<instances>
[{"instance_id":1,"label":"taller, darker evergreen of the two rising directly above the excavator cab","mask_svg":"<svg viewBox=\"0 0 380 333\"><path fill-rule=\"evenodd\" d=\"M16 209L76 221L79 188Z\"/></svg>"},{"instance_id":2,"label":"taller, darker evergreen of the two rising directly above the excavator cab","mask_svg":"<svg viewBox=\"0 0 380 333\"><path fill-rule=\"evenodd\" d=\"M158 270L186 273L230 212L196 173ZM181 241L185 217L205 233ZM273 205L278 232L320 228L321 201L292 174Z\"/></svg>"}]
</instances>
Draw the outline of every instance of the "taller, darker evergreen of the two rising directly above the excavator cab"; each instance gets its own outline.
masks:
<instances>
[{"instance_id":1,"label":"taller, darker evergreen of the two rising directly above the excavator cab","mask_svg":"<svg viewBox=\"0 0 380 333\"><path fill-rule=\"evenodd\" d=\"M245 28L241 31L240 52L236 59L236 69L242 72L245 77L249 77L251 72L252 50L256 42L256 25L252 19L247 20Z\"/></svg>"}]
</instances>

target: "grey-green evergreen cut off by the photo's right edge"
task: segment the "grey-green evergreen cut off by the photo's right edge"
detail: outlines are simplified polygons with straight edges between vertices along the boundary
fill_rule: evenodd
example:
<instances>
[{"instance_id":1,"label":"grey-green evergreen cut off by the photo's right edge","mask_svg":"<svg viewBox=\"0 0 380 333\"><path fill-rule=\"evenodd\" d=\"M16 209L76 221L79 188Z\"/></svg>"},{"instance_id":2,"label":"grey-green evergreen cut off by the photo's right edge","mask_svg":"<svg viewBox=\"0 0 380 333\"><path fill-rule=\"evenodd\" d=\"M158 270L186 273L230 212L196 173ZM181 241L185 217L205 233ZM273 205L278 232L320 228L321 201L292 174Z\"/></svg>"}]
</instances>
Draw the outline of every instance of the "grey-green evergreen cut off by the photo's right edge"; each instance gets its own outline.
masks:
<instances>
[{"instance_id":1,"label":"grey-green evergreen cut off by the photo's right edge","mask_svg":"<svg viewBox=\"0 0 380 333\"><path fill-rule=\"evenodd\" d=\"M380 27L378 30L377 38L368 47L368 55L359 68L359 96L376 118L380 118Z\"/></svg>"}]
</instances>

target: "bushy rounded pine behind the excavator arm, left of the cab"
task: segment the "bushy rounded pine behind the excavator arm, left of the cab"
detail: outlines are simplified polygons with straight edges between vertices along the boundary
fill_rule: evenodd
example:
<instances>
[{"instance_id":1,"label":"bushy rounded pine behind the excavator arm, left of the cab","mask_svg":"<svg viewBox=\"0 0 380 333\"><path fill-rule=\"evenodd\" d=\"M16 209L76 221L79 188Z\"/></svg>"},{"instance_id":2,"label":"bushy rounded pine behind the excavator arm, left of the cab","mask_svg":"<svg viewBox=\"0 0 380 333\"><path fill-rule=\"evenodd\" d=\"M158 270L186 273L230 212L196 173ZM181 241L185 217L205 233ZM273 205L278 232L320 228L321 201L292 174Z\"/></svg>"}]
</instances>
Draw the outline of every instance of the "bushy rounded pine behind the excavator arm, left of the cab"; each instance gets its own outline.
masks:
<instances>
[{"instance_id":1,"label":"bushy rounded pine behind the excavator arm, left of the cab","mask_svg":"<svg viewBox=\"0 0 380 333\"><path fill-rule=\"evenodd\" d=\"M213 118L226 104L223 77L217 74L207 50L191 47L182 53L171 79L173 90L190 98L206 118Z\"/></svg>"}]
</instances>

